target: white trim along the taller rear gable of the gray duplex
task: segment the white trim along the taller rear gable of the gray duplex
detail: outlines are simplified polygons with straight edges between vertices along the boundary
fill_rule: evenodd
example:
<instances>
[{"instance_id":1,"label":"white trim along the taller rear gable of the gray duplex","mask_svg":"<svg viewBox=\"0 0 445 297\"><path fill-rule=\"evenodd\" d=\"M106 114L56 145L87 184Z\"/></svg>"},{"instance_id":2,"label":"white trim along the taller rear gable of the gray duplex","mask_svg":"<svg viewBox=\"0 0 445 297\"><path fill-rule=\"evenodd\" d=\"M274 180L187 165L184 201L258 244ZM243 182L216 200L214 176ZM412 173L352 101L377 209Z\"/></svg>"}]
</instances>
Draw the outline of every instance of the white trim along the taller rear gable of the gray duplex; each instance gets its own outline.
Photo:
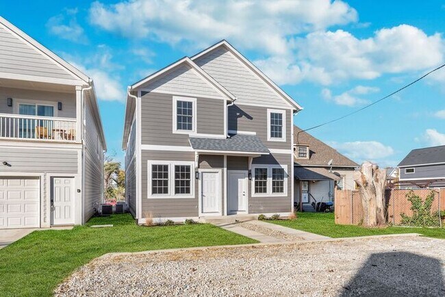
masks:
<instances>
[{"instance_id":1,"label":"white trim along the taller rear gable of the gray duplex","mask_svg":"<svg viewBox=\"0 0 445 297\"><path fill-rule=\"evenodd\" d=\"M191 57L191 59L194 61L199 57L205 55L206 53L209 53L210 51L213 51L214 49L221 46L224 46L227 49L229 49L230 53L233 56L235 56L236 58L238 58L238 60L240 60L243 64L245 64L247 68L249 68L249 70L251 70L255 75L262 78L263 81L266 83L266 85L275 92L277 92L281 96L281 98L283 98L286 101L286 103L288 103L291 107L298 109L298 111L303 109L303 107L298 105L298 103L296 103L288 94L286 94L283 90L281 90L279 86L277 86L272 80L270 80L264 73L262 73L261 70L257 68L257 66L253 65L252 62L247 60L246 57L244 57L244 55L242 55L239 51L237 51L234 47L232 47L231 44L229 44L229 42L227 42L226 40L222 40L212 45L212 47L209 47L208 49L201 51L201 53L194 55L193 57Z\"/></svg>"}]
</instances>

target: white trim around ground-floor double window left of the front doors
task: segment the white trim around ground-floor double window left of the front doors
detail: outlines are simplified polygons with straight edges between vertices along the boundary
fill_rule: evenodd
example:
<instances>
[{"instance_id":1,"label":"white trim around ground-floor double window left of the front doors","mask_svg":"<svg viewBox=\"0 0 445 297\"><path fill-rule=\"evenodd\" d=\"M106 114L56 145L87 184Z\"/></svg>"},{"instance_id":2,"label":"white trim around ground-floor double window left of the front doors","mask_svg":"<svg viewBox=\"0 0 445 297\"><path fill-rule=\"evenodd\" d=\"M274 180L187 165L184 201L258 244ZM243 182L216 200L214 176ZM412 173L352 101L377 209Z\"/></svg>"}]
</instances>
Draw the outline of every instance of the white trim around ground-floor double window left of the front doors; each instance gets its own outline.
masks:
<instances>
[{"instance_id":1,"label":"white trim around ground-floor double window left of the front doors","mask_svg":"<svg viewBox=\"0 0 445 297\"><path fill-rule=\"evenodd\" d=\"M152 165L167 165L168 166L168 194L152 194L151 193L151 166ZM189 165L190 166L190 194L175 194L175 165ZM194 162L188 161L147 161L147 198L149 199L163 199L163 198L194 198Z\"/></svg>"}]
</instances>

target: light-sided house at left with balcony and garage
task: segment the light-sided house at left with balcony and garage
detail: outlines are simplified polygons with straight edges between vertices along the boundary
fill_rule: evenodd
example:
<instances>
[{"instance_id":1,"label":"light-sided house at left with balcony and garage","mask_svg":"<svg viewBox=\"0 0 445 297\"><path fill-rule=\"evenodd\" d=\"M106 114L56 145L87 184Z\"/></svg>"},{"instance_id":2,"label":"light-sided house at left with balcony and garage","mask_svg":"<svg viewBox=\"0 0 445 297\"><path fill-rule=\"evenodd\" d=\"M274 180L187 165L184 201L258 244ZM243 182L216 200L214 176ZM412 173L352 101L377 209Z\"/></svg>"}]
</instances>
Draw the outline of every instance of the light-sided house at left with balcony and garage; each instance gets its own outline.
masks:
<instances>
[{"instance_id":1,"label":"light-sided house at left with balcony and garage","mask_svg":"<svg viewBox=\"0 0 445 297\"><path fill-rule=\"evenodd\" d=\"M105 149L92 80L0 17L0 229L86 222Z\"/></svg>"}]
</instances>

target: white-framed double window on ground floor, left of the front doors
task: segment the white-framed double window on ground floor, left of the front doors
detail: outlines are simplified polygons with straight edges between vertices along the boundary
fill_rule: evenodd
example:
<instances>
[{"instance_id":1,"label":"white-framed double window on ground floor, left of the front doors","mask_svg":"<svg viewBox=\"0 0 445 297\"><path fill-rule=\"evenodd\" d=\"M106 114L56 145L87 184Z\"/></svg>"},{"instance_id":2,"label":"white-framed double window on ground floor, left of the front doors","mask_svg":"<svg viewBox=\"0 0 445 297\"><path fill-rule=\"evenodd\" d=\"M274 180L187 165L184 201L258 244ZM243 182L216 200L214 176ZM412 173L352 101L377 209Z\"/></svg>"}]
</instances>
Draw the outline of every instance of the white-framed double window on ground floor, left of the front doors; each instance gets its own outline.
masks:
<instances>
[{"instance_id":1,"label":"white-framed double window on ground floor, left of the front doors","mask_svg":"<svg viewBox=\"0 0 445 297\"><path fill-rule=\"evenodd\" d=\"M148 198L194 198L194 162L148 161Z\"/></svg>"}]
</instances>

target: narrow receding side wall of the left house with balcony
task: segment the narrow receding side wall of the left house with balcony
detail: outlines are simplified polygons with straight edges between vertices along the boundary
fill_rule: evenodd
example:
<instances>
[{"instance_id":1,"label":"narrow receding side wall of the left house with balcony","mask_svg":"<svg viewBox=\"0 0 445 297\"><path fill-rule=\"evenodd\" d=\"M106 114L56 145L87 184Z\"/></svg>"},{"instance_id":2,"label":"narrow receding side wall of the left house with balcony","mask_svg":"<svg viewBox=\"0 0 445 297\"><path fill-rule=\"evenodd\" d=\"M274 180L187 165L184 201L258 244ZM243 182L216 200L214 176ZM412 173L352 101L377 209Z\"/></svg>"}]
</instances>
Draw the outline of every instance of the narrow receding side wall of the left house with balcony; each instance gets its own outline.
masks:
<instances>
[{"instance_id":1,"label":"narrow receding side wall of the left house with balcony","mask_svg":"<svg viewBox=\"0 0 445 297\"><path fill-rule=\"evenodd\" d=\"M103 146L99 137L99 129L92 116L91 103L86 101L86 135L84 146L85 188L84 188L84 220L94 214L94 208L103 201Z\"/></svg>"}]
</instances>

